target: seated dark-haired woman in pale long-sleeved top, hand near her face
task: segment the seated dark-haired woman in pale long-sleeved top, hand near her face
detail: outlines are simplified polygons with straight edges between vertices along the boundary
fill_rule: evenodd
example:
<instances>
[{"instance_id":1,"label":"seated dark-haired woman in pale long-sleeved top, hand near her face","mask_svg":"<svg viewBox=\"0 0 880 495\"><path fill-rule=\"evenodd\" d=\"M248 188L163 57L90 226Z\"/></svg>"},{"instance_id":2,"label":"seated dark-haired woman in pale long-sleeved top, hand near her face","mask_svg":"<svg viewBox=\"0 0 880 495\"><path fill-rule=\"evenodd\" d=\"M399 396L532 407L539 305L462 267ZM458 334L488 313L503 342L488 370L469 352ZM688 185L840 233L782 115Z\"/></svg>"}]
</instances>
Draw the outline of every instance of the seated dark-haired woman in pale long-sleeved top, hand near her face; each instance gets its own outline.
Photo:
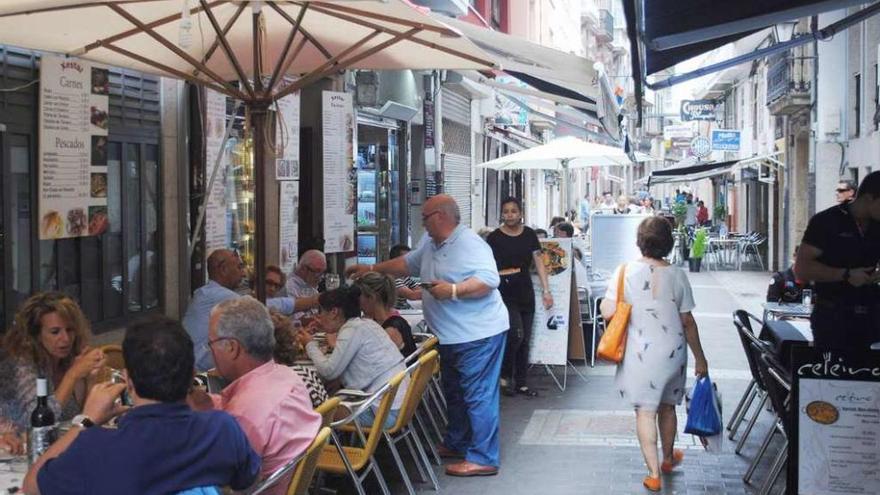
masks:
<instances>
[{"instance_id":1,"label":"seated dark-haired woman in pale long-sleeved top, hand near her face","mask_svg":"<svg viewBox=\"0 0 880 495\"><path fill-rule=\"evenodd\" d=\"M329 356L324 354L308 330L300 330L296 340L305 347L321 378L341 378L345 388L372 393L404 370L404 358L384 328L373 320L361 318L360 297L357 286L340 287L318 296L320 310L314 325L317 330L326 332L327 343L333 348ZM407 377L391 405L386 427L397 421L408 385ZM378 404L374 410L376 407ZM375 419L374 410L366 411L358 421L371 425Z\"/></svg>"}]
</instances>

